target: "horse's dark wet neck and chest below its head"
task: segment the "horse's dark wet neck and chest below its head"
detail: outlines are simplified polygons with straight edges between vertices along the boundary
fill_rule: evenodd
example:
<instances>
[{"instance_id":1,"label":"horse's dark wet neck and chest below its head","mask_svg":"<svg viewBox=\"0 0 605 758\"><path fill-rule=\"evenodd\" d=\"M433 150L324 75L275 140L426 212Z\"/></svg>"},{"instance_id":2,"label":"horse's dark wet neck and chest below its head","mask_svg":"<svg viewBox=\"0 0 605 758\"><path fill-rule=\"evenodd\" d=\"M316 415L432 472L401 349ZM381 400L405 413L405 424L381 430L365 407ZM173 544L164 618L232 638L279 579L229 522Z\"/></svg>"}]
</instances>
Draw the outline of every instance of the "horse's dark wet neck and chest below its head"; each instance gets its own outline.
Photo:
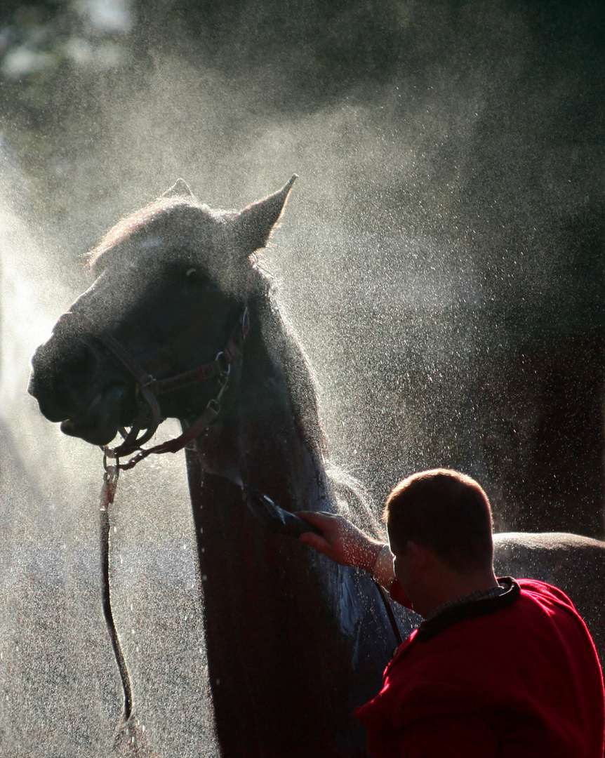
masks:
<instances>
[{"instance_id":1,"label":"horse's dark wet neck and chest below its head","mask_svg":"<svg viewBox=\"0 0 605 758\"><path fill-rule=\"evenodd\" d=\"M365 609L374 618L366 594L353 572L268 531L221 472L237 465L284 509L332 509L305 359L277 312L251 305L224 415L187 451L217 733L224 755L353 755L362 744L353 703L378 688L375 677L367 681L368 646L358 644Z\"/></svg>"}]
</instances>

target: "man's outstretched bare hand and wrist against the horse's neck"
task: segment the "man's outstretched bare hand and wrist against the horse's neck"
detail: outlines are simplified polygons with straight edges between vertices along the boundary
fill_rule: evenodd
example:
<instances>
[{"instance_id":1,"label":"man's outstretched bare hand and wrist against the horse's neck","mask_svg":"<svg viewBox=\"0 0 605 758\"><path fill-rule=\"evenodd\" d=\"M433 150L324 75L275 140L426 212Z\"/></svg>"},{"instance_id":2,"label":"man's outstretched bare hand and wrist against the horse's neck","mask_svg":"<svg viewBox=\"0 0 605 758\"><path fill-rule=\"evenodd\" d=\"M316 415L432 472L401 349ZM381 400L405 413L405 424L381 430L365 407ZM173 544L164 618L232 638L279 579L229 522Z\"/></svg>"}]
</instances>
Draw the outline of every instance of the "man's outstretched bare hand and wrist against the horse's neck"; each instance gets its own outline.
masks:
<instances>
[{"instance_id":1,"label":"man's outstretched bare hand and wrist against the horse's neck","mask_svg":"<svg viewBox=\"0 0 605 758\"><path fill-rule=\"evenodd\" d=\"M301 534L299 540L303 544L323 553L335 563L365 568L371 574L383 547L382 543L373 540L346 518L334 513L296 511L296 515L323 532Z\"/></svg>"}]
</instances>

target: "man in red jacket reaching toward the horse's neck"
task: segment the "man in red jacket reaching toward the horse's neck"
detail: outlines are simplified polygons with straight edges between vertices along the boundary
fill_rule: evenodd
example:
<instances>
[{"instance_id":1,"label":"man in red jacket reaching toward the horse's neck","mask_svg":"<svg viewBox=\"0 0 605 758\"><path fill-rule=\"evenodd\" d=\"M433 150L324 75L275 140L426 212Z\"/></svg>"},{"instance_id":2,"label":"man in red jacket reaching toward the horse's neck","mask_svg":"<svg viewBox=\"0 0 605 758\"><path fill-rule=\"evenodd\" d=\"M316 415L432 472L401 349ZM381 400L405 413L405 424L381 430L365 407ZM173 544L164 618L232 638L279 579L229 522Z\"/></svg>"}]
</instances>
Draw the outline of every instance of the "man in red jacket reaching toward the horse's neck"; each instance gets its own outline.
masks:
<instances>
[{"instance_id":1,"label":"man in red jacket reaching toward the horse's neck","mask_svg":"<svg viewBox=\"0 0 605 758\"><path fill-rule=\"evenodd\" d=\"M387 498L389 543L337 515L301 512L301 542L356 565L425 621L397 650L378 695L356 710L373 758L602 758L603 675L563 592L494 576L491 508L446 469Z\"/></svg>"}]
</instances>

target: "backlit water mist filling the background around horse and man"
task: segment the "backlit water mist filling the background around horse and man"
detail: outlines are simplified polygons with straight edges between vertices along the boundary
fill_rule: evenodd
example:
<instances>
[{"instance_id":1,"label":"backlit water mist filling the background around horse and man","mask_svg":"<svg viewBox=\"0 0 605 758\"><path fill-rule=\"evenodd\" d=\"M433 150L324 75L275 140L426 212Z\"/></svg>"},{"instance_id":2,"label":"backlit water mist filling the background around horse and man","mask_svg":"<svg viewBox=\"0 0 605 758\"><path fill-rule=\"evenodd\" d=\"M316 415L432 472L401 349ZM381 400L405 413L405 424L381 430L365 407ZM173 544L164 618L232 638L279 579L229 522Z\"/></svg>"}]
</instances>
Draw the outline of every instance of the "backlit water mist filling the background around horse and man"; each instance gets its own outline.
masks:
<instances>
[{"instance_id":1,"label":"backlit water mist filling the background around horse and man","mask_svg":"<svg viewBox=\"0 0 605 758\"><path fill-rule=\"evenodd\" d=\"M603 537L603 20L563 0L5 3L2 755L114 755L101 457L27 377L91 283L83 253L177 177L243 208L299 174L265 267L377 512L442 465L480 479L499 531ZM213 755L184 464L144 465L112 537L136 713L150 754Z\"/></svg>"}]
</instances>

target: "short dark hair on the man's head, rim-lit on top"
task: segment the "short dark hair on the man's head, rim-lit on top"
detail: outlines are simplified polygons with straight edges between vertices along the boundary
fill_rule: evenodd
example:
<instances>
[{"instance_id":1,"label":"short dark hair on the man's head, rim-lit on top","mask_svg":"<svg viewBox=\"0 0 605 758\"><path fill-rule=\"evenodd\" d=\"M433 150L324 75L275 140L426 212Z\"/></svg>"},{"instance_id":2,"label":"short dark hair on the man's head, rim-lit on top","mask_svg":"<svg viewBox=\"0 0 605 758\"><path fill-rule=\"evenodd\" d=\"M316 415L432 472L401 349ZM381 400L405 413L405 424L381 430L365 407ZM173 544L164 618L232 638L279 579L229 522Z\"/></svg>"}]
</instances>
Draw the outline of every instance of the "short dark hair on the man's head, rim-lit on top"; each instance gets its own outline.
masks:
<instances>
[{"instance_id":1,"label":"short dark hair on the man's head, rim-lit on top","mask_svg":"<svg viewBox=\"0 0 605 758\"><path fill-rule=\"evenodd\" d=\"M434 468L403 479L387 497L383 520L400 550L412 540L459 572L491 566L490 501L459 471Z\"/></svg>"}]
</instances>

